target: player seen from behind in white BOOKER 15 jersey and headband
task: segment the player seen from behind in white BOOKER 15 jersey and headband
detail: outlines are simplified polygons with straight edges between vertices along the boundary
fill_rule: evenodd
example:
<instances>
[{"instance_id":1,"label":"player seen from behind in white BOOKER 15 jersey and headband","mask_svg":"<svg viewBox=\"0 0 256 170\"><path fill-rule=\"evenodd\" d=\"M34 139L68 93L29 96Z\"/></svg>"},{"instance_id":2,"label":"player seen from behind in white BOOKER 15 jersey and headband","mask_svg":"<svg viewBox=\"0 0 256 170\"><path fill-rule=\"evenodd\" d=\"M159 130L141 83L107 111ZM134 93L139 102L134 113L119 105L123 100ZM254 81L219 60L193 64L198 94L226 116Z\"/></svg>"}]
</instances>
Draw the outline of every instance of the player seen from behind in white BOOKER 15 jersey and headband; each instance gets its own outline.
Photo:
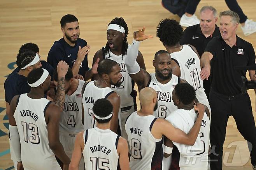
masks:
<instances>
[{"instance_id":1,"label":"player seen from behind in white BOOKER 15 jersey and headband","mask_svg":"<svg viewBox=\"0 0 256 170\"><path fill-rule=\"evenodd\" d=\"M108 100L95 101L93 117L97 127L77 135L69 170L78 170L82 155L87 170L115 170L118 162L121 170L130 170L128 144L123 137L110 130L112 110L113 106Z\"/></svg>"}]
</instances>

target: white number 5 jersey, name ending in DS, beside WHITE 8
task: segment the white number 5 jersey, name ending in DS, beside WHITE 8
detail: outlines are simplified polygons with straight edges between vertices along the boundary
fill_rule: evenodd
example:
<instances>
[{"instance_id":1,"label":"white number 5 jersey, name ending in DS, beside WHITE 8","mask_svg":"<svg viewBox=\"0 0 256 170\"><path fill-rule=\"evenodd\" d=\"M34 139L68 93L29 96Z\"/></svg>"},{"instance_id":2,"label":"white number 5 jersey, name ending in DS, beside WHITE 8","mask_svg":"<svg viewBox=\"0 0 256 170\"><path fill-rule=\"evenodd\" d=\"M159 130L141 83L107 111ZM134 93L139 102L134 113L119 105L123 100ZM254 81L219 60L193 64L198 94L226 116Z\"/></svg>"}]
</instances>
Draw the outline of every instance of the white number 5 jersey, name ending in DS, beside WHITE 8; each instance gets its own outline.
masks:
<instances>
[{"instance_id":1,"label":"white number 5 jersey, name ending in DS, beside WHITE 8","mask_svg":"<svg viewBox=\"0 0 256 170\"><path fill-rule=\"evenodd\" d=\"M197 114L195 113L195 109L178 109L177 111L170 114L167 117L167 120L170 121L174 127L179 128L188 134L195 124L194 122L196 121L196 118ZM194 146L191 147L173 142L180 152L179 166L181 170L207 170L209 132L210 120L207 114L204 113L198 138L196 139ZM191 150L193 150L192 153Z\"/></svg>"}]
</instances>

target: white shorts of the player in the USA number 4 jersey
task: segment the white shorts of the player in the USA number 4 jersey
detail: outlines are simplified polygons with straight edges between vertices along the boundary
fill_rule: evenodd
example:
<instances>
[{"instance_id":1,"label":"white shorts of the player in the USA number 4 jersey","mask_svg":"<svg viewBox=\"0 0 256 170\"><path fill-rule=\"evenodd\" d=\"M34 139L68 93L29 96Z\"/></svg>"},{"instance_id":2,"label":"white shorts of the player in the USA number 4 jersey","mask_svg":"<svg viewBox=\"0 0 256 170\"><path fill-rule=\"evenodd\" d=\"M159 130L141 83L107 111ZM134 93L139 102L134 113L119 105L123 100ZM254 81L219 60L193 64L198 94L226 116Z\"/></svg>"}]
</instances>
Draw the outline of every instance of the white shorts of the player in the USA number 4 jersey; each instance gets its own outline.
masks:
<instances>
[{"instance_id":1,"label":"white shorts of the player in the USA number 4 jersey","mask_svg":"<svg viewBox=\"0 0 256 170\"><path fill-rule=\"evenodd\" d=\"M60 142L64 148L65 153L68 158L72 158L72 153L75 147L75 137L77 134L67 134L60 132ZM79 170L84 170L84 159L81 159L79 163Z\"/></svg>"}]
</instances>

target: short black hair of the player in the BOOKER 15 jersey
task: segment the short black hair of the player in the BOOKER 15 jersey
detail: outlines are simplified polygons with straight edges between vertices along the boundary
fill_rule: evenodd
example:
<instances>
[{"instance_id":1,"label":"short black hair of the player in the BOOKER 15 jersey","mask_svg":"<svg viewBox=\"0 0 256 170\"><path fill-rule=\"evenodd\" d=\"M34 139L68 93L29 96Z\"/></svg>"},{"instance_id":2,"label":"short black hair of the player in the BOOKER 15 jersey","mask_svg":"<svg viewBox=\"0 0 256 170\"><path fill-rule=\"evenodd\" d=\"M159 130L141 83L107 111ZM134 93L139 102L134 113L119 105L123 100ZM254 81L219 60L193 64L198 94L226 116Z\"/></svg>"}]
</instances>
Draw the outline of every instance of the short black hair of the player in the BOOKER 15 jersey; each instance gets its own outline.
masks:
<instances>
[{"instance_id":1,"label":"short black hair of the player in the BOOKER 15 jersey","mask_svg":"<svg viewBox=\"0 0 256 170\"><path fill-rule=\"evenodd\" d=\"M96 116L100 116L101 118L109 116L109 114L112 113L112 110L113 110L113 106L110 103L110 101L108 101L107 99L98 99L93 105L93 113ZM111 120L112 117L113 116L105 120L100 120L96 118L96 121L98 123L107 123Z\"/></svg>"}]
</instances>

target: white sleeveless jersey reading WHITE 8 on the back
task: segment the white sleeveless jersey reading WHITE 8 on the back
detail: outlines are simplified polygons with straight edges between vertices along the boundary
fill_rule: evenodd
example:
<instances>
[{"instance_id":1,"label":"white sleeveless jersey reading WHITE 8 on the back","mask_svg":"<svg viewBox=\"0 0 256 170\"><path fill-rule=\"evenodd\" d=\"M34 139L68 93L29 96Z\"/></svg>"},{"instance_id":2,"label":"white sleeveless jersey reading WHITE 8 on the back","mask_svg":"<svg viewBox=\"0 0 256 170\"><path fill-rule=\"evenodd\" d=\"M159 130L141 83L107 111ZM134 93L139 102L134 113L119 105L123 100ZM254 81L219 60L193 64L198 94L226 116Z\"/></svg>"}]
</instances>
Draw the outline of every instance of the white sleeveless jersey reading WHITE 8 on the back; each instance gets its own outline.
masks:
<instances>
[{"instance_id":1,"label":"white sleeveless jersey reading WHITE 8 on the back","mask_svg":"<svg viewBox=\"0 0 256 170\"><path fill-rule=\"evenodd\" d=\"M131 170L162 169L163 138L156 139L151 134L156 119L153 115L139 116L133 112L125 123L131 150Z\"/></svg>"}]
</instances>

